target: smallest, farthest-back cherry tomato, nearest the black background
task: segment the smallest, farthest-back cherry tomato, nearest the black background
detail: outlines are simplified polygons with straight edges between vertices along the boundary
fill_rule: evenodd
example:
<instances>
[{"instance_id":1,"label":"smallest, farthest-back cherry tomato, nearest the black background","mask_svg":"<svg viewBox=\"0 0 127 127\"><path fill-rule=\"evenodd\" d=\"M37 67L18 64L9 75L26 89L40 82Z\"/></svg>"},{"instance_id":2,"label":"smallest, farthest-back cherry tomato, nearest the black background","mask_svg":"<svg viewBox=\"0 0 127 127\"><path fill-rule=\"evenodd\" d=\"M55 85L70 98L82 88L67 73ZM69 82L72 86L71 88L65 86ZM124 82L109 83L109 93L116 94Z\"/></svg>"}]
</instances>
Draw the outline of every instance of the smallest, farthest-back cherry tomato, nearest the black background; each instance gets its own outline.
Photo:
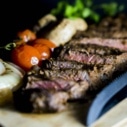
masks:
<instances>
[{"instance_id":1,"label":"smallest, farthest-back cherry tomato, nearest the black background","mask_svg":"<svg viewBox=\"0 0 127 127\"><path fill-rule=\"evenodd\" d=\"M18 32L17 36L24 42L33 41L36 39L36 34L29 29Z\"/></svg>"}]
</instances>

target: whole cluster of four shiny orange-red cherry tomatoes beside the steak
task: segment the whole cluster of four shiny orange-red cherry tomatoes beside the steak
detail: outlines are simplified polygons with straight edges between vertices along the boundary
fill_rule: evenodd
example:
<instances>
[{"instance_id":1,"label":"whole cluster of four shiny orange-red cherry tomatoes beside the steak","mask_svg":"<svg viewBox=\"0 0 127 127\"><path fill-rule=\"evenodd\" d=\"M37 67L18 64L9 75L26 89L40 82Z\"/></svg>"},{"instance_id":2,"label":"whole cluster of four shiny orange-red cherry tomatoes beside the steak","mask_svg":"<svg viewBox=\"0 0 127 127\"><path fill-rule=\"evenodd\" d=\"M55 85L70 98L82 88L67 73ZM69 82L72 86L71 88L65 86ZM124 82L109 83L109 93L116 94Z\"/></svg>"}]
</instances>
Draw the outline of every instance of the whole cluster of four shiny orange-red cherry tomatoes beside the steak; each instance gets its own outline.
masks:
<instances>
[{"instance_id":1,"label":"whole cluster of four shiny orange-red cherry tomatoes beside the steak","mask_svg":"<svg viewBox=\"0 0 127 127\"><path fill-rule=\"evenodd\" d=\"M31 30L26 29L18 32L21 39L16 42L16 47L12 50L12 62L29 70L33 65L41 65L41 62L51 57L56 45L48 39L36 38ZM27 42L27 43L26 43Z\"/></svg>"}]
</instances>

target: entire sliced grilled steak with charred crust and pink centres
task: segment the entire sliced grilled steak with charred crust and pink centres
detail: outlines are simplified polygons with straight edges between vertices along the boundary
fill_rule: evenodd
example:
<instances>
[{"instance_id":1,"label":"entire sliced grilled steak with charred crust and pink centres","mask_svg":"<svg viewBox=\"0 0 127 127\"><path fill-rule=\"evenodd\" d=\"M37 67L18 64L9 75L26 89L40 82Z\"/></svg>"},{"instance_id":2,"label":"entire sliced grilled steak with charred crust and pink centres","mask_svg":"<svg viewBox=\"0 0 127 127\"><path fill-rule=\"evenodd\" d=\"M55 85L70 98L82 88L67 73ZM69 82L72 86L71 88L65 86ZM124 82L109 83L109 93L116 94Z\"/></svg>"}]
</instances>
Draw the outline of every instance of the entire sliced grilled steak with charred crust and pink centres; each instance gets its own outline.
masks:
<instances>
[{"instance_id":1,"label":"entire sliced grilled steak with charred crust and pink centres","mask_svg":"<svg viewBox=\"0 0 127 127\"><path fill-rule=\"evenodd\" d=\"M59 112L71 101L92 100L127 69L127 22L124 15L107 17L87 31L77 32L52 58L34 66L14 92L23 112Z\"/></svg>"}]
</instances>

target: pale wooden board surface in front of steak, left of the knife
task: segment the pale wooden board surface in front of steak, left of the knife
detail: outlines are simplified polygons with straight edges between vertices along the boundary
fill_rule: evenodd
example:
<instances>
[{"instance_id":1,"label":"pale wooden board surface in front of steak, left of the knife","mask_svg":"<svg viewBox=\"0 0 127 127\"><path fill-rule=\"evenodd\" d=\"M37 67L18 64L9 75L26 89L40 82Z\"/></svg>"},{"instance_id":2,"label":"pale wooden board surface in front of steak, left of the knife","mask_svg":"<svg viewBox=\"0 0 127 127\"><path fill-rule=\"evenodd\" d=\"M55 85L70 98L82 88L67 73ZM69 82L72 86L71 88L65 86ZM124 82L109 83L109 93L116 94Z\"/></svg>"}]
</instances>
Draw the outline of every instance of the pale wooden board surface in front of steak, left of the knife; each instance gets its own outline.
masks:
<instances>
[{"instance_id":1,"label":"pale wooden board surface in front of steak, left of the knife","mask_svg":"<svg viewBox=\"0 0 127 127\"><path fill-rule=\"evenodd\" d=\"M85 127L84 105L73 110L50 114L26 114L13 108L0 108L0 124L4 127ZM82 120L81 120L82 119Z\"/></svg>"}]
</instances>

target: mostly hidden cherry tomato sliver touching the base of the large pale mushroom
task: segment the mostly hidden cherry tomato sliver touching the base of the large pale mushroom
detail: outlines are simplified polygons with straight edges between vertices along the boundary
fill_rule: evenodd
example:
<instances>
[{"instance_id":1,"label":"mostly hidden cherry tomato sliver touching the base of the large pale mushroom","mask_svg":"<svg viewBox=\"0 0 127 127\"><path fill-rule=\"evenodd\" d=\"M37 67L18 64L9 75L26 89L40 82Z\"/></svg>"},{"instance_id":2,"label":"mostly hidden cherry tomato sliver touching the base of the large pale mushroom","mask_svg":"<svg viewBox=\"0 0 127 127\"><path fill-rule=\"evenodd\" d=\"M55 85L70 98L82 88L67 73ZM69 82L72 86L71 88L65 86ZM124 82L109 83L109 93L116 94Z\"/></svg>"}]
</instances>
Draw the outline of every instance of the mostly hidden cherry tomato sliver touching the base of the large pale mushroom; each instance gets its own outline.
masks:
<instances>
[{"instance_id":1,"label":"mostly hidden cherry tomato sliver touching the base of the large pale mushroom","mask_svg":"<svg viewBox=\"0 0 127 127\"><path fill-rule=\"evenodd\" d=\"M50 41L50 40L48 40L48 39L44 39L44 38L37 38L37 39L35 39L35 40L32 42L32 44L35 44L35 43L39 43L39 44L41 44L41 45L46 45L46 46L49 47L51 50L53 50L53 49L56 47L56 45L55 45L52 41Z\"/></svg>"}]
</instances>

